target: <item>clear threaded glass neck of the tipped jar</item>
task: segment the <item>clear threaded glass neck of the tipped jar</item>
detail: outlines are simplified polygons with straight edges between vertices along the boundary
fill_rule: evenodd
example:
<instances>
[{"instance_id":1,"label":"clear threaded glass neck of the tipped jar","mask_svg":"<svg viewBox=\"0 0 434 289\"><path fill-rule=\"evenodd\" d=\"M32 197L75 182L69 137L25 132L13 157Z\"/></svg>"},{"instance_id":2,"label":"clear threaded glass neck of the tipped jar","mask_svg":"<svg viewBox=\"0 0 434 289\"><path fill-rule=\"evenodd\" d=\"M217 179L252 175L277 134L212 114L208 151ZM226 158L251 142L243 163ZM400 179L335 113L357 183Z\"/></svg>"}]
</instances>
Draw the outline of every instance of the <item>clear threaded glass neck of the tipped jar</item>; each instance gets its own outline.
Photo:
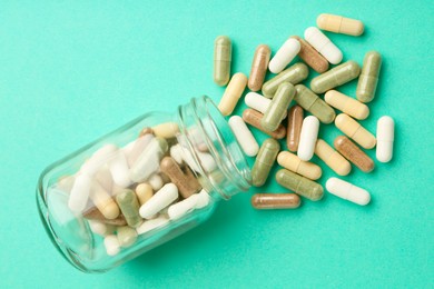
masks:
<instances>
[{"instance_id":1,"label":"clear threaded glass neck of the tipped jar","mask_svg":"<svg viewBox=\"0 0 434 289\"><path fill-rule=\"evenodd\" d=\"M250 188L251 175L247 160L228 122L210 98L194 98L190 103L178 107L177 118L184 146L213 190L229 199ZM216 170L205 168L197 143L205 144L216 162Z\"/></svg>"}]
</instances>

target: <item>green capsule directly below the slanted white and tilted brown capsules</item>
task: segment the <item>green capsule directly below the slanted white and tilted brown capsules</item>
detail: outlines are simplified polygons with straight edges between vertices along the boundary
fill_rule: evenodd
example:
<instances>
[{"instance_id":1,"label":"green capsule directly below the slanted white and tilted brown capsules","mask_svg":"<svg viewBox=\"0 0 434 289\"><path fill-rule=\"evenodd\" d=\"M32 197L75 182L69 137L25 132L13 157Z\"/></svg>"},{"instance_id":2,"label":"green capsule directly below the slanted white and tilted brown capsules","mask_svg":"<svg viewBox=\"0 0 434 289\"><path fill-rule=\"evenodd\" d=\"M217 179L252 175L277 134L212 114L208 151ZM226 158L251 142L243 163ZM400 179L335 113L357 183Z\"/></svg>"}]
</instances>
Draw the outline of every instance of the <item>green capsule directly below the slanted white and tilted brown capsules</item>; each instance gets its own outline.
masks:
<instances>
[{"instance_id":1,"label":"green capsule directly below the slanted white and tilted brown capsules","mask_svg":"<svg viewBox=\"0 0 434 289\"><path fill-rule=\"evenodd\" d=\"M273 98L274 93L277 91L277 88L283 82L289 82L295 86L302 82L303 80L305 80L308 74L309 74L309 69L305 63L302 62L295 63L294 66L285 69L276 77L265 82L263 86L263 94L266 98Z\"/></svg>"}]
</instances>

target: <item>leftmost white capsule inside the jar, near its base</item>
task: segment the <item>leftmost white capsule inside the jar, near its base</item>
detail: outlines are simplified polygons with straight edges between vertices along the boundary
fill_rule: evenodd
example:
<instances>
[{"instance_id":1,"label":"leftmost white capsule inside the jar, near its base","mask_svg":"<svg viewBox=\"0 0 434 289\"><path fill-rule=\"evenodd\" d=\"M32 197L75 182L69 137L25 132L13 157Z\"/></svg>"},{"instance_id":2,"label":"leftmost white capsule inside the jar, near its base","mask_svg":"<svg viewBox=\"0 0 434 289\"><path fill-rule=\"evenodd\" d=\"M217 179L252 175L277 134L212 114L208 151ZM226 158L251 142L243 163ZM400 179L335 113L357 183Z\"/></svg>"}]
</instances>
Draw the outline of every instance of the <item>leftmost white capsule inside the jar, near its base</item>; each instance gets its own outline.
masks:
<instances>
[{"instance_id":1,"label":"leftmost white capsule inside the jar, near its base","mask_svg":"<svg viewBox=\"0 0 434 289\"><path fill-rule=\"evenodd\" d=\"M86 173L76 176L71 193L69 195L68 207L73 212L82 212L89 199L92 180Z\"/></svg>"}]
</instances>

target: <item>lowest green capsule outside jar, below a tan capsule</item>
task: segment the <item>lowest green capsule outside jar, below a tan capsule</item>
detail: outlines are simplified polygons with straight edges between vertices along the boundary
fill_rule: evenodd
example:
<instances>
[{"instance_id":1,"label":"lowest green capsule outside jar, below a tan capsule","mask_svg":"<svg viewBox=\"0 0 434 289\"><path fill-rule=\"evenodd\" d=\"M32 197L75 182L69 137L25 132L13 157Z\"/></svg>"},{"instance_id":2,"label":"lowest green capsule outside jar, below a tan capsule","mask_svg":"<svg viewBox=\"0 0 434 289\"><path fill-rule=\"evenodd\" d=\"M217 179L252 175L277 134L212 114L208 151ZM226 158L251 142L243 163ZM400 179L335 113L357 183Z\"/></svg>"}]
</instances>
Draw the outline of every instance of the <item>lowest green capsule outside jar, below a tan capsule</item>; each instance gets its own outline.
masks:
<instances>
[{"instance_id":1,"label":"lowest green capsule outside jar, below a tan capsule","mask_svg":"<svg viewBox=\"0 0 434 289\"><path fill-rule=\"evenodd\" d=\"M313 201L320 200L324 195L324 189L319 183L286 169L277 171L276 181L280 186Z\"/></svg>"}]
</instances>

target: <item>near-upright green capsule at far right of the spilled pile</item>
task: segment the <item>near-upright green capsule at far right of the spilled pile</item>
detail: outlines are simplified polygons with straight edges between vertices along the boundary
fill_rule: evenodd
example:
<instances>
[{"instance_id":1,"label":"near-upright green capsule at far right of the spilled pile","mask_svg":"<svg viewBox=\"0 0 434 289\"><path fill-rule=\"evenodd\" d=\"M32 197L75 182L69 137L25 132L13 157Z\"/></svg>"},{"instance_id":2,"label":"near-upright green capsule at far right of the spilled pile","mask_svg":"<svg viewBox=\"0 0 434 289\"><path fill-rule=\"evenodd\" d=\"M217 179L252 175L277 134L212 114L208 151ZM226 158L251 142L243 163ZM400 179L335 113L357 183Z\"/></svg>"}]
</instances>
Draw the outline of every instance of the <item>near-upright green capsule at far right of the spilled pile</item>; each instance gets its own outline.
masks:
<instances>
[{"instance_id":1,"label":"near-upright green capsule at far right of the spilled pile","mask_svg":"<svg viewBox=\"0 0 434 289\"><path fill-rule=\"evenodd\" d=\"M382 56L377 51L367 52L357 83L356 97L359 101L369 102L374 99L381 68Z\"/></svg>"}]
</instances>

